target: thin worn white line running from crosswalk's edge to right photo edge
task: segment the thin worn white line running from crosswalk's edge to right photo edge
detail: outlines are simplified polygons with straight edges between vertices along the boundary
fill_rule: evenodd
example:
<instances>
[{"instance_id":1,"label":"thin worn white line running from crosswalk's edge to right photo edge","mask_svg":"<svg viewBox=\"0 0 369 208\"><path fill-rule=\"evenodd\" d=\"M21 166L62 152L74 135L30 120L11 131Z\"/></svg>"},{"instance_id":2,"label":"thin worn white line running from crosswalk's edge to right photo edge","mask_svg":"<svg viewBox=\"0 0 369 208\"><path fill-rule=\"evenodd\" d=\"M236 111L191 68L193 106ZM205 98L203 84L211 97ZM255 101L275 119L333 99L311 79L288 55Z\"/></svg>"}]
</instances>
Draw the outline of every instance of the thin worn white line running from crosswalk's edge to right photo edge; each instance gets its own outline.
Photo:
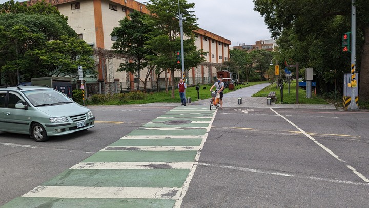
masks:
<instances>
[{"instance_id":1,"label":"thin worn white line running from crosswalk's edge to right photo edge","mask_svg":"<svg viewBox=\"0 0 369 208\"><path fill-rule=\"evenodd\" d=\"M368 183L360 183L360 182L355 182L355 181L335 180L335 179L319 178L319 177L314 177L314 176L298 176L298 175L293 175L293 174L286 174L286 173L281 173L281 172L262 171L260 169L251 169L251 168L245 168L245 167L215 165L215 164L207 164L207 163L199 163L198 165L211 166L211 167L219 167L219 168L226 168L226 169L234 169L234 170L237 170L237 171L247 171L247 172L252 172L252 173L260 173L260 174L269 174L269 175L277 175L277 176L284 176L284 177L292 177L292 178L312 179L312 180L319 180L319 181L332 182L332 183L342 183L342 184L366 185L366 186L369 186Z\"/></svg>"}]
</instances>

